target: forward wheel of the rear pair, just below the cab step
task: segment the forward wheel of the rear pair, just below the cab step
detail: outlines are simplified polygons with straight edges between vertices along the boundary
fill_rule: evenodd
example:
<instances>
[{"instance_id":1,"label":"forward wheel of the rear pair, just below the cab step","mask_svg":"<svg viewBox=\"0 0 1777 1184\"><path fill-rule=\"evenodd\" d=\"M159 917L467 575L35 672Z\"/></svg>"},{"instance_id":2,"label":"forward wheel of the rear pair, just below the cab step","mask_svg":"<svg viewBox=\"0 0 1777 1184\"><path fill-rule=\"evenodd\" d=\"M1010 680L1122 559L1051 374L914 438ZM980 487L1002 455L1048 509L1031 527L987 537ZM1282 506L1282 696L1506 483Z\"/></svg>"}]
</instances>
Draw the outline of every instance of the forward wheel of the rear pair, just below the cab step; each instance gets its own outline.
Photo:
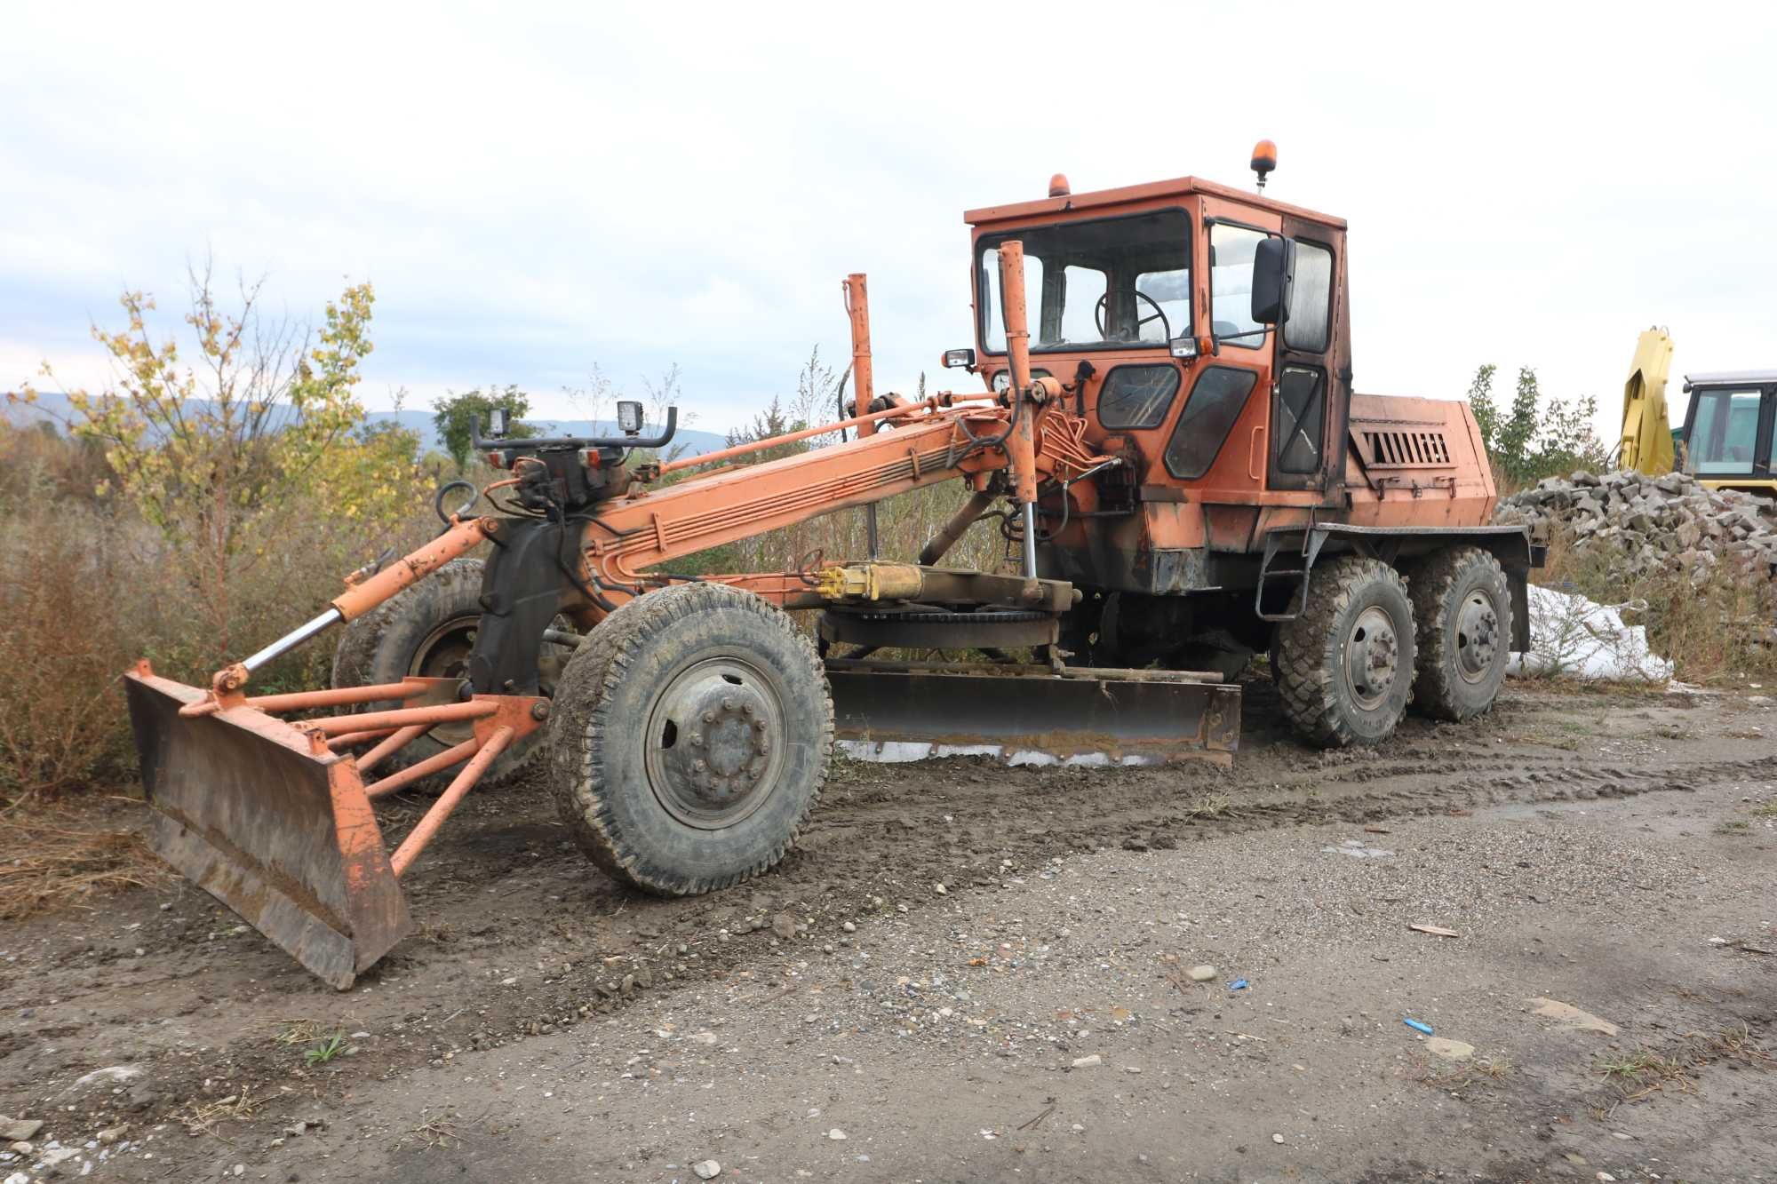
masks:
<instances>
[{"instance_id":1,"label":"forward wheel of the rear pair, just below the cab step","mask_svg":"<svg viewBox=\"0 0 1777 1184\"><path fill-rule=\"evenodd\" d=\"M1278 692L1290 724L1322 748L1375 745L1413 692L1413 604L1374 558L1317 567L1303 613L1278 629Z\"/></svg>"}]
</instances>

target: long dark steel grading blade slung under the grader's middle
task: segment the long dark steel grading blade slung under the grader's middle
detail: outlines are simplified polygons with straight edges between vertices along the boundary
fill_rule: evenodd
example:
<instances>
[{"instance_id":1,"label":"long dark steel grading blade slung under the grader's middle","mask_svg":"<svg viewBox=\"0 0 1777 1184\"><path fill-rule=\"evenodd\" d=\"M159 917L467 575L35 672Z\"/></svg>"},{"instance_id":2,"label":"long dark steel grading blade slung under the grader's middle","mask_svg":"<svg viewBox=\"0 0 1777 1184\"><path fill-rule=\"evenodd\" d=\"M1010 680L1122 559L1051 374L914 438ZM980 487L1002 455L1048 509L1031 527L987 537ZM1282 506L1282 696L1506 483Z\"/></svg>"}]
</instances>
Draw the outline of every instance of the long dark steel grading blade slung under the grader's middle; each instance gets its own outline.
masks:
<instances>
[{"instance_id":1,"label":"long dark steel grading blade slung under the grader's middle","mask_svg":"<svg viewBox=\"0 0 1777 1184\"><path fill-rule=\"evenodd\" d=\"M1215 676L830 661L833 731L867 761L1008 764L1233 761L1240 688Z\"/></svg>"}]
</instances>

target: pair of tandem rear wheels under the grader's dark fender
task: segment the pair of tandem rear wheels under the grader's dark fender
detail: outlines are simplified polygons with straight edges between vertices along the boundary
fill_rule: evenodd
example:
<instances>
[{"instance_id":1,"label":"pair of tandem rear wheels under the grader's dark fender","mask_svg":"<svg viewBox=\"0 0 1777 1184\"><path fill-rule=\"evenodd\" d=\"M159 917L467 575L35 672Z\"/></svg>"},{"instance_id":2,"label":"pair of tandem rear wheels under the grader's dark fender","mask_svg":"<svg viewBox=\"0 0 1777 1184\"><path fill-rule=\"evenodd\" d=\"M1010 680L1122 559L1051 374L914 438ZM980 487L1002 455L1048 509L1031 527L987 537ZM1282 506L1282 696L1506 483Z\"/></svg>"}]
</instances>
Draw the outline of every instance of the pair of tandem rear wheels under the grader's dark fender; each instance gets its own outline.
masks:
<instances>
[{"instance_id":1,"label":"pair of tandem rear wheels under the grader's dark fender","mask_svg":"<svg viewBox=\"0 0 1777 1184\"><path fill-rule=\"evenodd\" d=\"M1324 748L1388 740L1411 704L1439 720L1493 706L1510 651L1500 562L1445 548L1397 571L1347 555L1315 569L1310 601L1278 631L1290 724Z\"/></svg>"}]
</instances>

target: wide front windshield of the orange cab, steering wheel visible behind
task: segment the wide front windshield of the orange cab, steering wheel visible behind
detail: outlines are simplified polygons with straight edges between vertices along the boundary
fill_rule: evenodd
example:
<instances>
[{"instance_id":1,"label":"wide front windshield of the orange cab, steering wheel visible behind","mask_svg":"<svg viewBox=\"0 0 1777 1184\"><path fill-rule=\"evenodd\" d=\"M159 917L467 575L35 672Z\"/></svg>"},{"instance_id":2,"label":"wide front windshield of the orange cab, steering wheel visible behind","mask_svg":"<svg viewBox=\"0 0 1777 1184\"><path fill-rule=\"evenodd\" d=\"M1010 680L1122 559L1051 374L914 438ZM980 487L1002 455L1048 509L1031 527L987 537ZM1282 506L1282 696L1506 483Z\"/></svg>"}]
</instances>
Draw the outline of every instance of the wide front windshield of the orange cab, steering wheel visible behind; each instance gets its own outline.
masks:
<instances>
[{"instance_id":1,"label":"wide front windshield of the orange cab, steering wheel visible behind","mask_svg":"<svg viewBox=\"0 0 1777 1184\"><path fill-rule=\"evenodd\" d=\"M984 235L976 258L984 352L1006 352L999 245L1009 238L1024 242L1032 354L1191 336L1191 220L1155 210Z\"/></svg>"}]
</instances>

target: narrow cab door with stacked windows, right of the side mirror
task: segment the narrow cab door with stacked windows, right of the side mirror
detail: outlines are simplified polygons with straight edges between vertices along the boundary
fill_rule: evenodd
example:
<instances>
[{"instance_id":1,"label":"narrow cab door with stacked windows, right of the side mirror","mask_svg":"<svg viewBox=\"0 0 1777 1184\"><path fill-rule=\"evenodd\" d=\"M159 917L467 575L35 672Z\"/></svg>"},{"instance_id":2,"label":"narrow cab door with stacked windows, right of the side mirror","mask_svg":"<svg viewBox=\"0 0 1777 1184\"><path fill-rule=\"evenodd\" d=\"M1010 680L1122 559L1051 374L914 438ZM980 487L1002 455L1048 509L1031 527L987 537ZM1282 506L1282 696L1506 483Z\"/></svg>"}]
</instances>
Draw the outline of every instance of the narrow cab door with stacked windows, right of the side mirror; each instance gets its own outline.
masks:
<instances>
[{"instance_id":1,"label":"narrow cab door with stacked windows, right of the side mirror","mask_svg":"<svg viewBox=\"0 0 1777 1184\"><path fill-rule=\"evenodd\" d=\"M1285 217L1283 235L1294 249L1274 332L1265 485L1331 492L1343 478L1351 411L1351 331L1338 299L1343 233Z\"/></svg>"}]
</instances>

